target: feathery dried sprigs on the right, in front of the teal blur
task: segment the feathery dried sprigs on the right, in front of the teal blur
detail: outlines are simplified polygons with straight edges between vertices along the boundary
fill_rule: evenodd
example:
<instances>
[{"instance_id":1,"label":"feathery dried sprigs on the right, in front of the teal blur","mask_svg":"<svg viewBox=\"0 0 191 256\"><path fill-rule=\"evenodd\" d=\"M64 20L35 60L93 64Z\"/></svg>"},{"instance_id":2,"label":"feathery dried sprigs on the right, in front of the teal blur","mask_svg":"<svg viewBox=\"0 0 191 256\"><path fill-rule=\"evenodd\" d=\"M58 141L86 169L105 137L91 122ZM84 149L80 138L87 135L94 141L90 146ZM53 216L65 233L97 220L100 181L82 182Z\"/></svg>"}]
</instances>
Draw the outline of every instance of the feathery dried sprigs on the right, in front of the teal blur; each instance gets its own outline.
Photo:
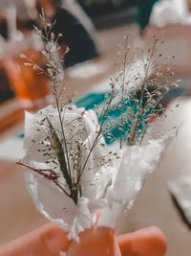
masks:
<instances>
[{"instance_id":1,"label":"feathery dried sprigs on the right, in front of the teal blur","mask_svg":"<svg viewBox=\"0 0 191 256\"><path fill-rule=\"evenodd\" d=\"M120 46L122 68L110 82L109 111L100 114L107 120L107 131L118 132L120 149L141 144L151 121L159 119L165 111L161 101L179 83L173 79L175 57L163 58L159 50L164 42L156 35L153 40L148 50L141 50L141 54L134 58L131 57L128 36L125 36L124 47ZM111 122L110 116L114 112L118 115L117 122ZM114 139L112 132L107 132L107 136Z\"/></svg>"}]
</instances>

